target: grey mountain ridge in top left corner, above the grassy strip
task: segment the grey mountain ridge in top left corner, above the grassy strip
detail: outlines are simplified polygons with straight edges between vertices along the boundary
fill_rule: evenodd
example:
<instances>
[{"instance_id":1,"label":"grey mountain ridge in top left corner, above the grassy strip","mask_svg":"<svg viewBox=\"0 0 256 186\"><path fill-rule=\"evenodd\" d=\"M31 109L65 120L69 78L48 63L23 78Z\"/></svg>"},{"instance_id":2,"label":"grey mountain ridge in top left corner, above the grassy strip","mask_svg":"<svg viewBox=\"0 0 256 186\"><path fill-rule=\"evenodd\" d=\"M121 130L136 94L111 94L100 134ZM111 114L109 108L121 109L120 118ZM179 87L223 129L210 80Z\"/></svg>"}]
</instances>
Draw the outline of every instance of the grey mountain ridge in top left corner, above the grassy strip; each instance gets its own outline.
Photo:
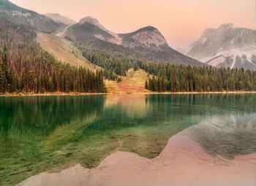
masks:
<instances>
[{"instance_id":1,"label":"grey mountain ridge in top left corner, above the grassy strip","mask_svg":"<svg viewBox=\"0 0 256 186\"><path fill-rule=\"evenodd\" d=\"M0 18L12 23L34 26L37 31L44 33L52 33L63 25L62 23L56 23L45 15L39 15L37 12L18 7L8 0L0 0Z\"/></svg>"}]
</instances>

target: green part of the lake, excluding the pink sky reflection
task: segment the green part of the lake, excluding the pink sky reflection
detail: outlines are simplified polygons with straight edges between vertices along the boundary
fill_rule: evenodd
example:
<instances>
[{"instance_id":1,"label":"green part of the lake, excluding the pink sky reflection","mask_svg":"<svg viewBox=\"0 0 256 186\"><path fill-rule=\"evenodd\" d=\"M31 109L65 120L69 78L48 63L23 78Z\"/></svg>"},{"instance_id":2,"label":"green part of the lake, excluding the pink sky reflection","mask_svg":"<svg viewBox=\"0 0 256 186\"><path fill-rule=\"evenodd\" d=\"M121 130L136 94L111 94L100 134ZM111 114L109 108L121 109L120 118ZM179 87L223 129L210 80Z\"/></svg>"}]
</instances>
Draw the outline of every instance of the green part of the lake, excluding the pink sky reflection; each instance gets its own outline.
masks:
<instances>
[{"instance_id":1,"label":"green part of the lake, excluding the pink sky reflection","mask_svg":"<svg viewBox=\"0 0 256 186\"><path fill-rule=\"evenodd\" d=\"M0 185L78 163L97 168L115 152L154 160L180 133L209 157L227 160L228 166L256 152L255 103L254 94L0 98ZM184 149L182 154L191 153ZM178 157L173 153L172 158ZM252 158L250 164L254 162ZM91 185L100 181L90 180Z\"/></svg>"}]
</instances>

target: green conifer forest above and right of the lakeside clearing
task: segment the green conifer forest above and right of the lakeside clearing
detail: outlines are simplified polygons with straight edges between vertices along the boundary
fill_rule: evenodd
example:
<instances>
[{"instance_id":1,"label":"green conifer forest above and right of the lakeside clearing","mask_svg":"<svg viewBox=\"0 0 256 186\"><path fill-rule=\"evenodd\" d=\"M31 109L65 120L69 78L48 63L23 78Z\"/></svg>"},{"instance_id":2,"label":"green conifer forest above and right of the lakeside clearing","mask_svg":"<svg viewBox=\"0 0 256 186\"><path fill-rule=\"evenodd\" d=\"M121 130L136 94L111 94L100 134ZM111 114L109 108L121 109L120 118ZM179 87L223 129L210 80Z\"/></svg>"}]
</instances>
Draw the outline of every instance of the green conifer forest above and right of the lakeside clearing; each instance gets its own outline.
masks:
<instances>
[{"instance_id":1,"label":"green conifer forest above and right of the lakeside clearing","mask_svg":"<svg viewBox=\"0 0 256 186\"><path fill-rule=\"evenodd\" d=\"M83 55L99 66L125 76L128 69L144 69L152 74L145 88L157 92L217 92L256 90L256 72L213 66L184 66L125 58L121 54L83 50Z\"/></svg>"}]
</instances>

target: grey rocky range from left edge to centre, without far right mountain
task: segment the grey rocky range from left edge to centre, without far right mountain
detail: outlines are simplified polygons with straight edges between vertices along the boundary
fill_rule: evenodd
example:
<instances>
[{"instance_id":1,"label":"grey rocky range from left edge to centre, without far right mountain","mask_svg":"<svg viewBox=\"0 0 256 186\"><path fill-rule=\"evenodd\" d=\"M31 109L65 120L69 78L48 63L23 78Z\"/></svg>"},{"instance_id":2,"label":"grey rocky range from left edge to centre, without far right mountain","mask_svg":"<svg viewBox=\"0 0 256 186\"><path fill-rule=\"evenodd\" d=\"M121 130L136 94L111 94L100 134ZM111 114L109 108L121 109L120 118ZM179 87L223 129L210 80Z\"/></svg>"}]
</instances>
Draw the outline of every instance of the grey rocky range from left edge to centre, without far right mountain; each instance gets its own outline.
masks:
<instances>
[{"instance_id":1,"label":"grey rocky range from left edge to centre, without far right mountain","mask_svg":"<svg viewBox=\"0 0 256 186\"><path fill-rule=\"evenodd\" d=\"M178 53L167 44L157 28L147 26L129 34L116 34L95 18L83 18L79 23L58 14L40 15L0 1L0 18L14 23L31 25L37 31L65 36L78 47L90 47L107 53L119 53L127 58L203 66L203 63Z\"/></svg>"}]
</instances>

